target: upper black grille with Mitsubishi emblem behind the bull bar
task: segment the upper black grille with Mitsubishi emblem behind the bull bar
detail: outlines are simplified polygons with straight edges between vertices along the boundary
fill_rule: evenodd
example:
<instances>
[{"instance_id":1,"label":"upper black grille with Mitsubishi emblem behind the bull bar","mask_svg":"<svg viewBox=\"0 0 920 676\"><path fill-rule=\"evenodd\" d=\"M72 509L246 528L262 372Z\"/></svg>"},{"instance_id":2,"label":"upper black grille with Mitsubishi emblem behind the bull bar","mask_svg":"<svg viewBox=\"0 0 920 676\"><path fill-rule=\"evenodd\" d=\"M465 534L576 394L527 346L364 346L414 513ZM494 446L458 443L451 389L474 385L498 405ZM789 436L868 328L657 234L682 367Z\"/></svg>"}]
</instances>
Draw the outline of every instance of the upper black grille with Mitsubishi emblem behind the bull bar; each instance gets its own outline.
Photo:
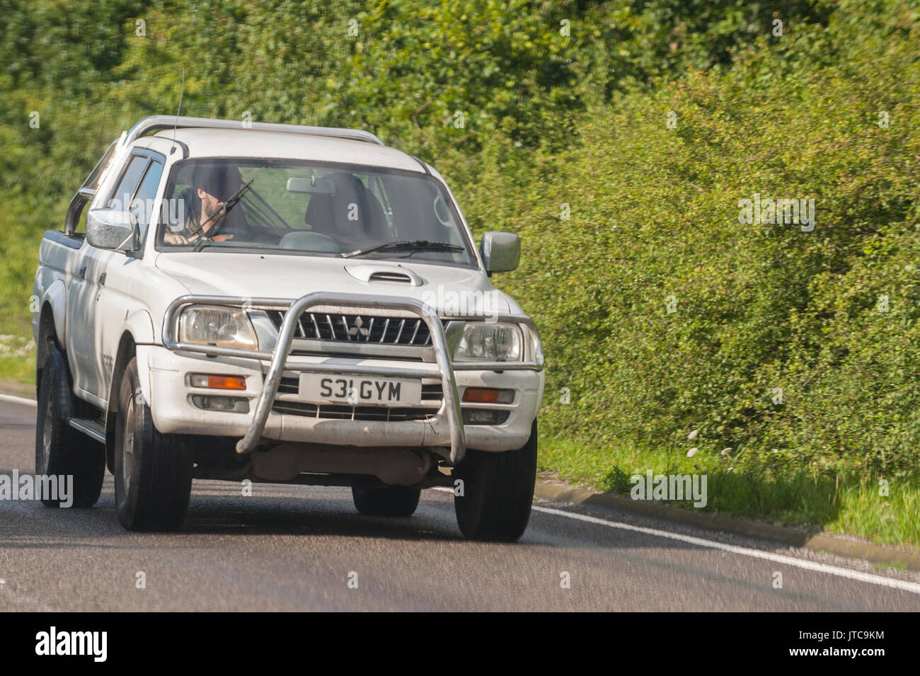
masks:
<instances>
[{"instance_id":1,"label":"upper black grille with Mitsubishi emblem behind the bull bar","mask_svg":"<svg viewBox=\"0 0 920 676\"><path fill-rule=\"evenodd\" d=\"M282 310L267 311L272 324L281 329ZM305 312L294 329L294 338L382 345L431 346L431 331L419 318L372 315L338 315Z\"/></svg>"}]
</instances>

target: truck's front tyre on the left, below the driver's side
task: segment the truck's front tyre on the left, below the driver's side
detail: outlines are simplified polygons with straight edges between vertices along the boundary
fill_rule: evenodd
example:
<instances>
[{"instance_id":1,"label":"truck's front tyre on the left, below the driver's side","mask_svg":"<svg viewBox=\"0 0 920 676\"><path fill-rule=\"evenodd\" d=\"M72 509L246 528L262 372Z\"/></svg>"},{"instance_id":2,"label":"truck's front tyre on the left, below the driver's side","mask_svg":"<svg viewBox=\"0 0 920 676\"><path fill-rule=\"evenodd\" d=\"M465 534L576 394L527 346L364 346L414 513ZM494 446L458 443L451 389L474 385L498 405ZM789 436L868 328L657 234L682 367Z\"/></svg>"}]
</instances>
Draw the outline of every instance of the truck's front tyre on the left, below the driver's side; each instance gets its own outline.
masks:
<instances>
[{"instance_id":1,"label":"truck's front tyre on the left, below the driver's side","mask_svg":"<svg viewBox=\"0 0 920 676\"><path fill-rule=\"evenodd\" d=\"M189 509L192 470L181 437L160 434L154 427L132 359L121 377L115 423L115 511L121 525L129 531L181 527Z\"/></svg>"}]
</instances>

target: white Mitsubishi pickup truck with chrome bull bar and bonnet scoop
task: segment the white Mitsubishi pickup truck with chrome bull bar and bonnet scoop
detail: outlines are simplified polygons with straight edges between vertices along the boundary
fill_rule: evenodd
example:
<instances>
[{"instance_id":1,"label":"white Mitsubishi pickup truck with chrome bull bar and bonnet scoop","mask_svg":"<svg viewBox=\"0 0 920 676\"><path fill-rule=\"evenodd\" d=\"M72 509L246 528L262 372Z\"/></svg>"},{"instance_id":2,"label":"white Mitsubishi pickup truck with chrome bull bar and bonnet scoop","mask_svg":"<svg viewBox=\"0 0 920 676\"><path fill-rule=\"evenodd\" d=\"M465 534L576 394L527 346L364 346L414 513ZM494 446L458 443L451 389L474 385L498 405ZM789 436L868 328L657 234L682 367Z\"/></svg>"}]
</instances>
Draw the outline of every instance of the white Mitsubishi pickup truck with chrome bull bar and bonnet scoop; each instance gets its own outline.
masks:
<instances>
[{"instance_id":1,"label":"white Mitsubishi pickup truck with chrome bull bar and bonnet scoop","mask_svg":"<svg viewBox=\"0 0 920 676\"><path fill-rule=\"evenodd\" d=\"M519 258L371 133L141 120L41 242L36 473L89 507L108 466L129 530L180 527L209 478L347 486L376 516L451 487L466 537L516 540L544 360L489 277Z\"/></svg>"}]
</instances>

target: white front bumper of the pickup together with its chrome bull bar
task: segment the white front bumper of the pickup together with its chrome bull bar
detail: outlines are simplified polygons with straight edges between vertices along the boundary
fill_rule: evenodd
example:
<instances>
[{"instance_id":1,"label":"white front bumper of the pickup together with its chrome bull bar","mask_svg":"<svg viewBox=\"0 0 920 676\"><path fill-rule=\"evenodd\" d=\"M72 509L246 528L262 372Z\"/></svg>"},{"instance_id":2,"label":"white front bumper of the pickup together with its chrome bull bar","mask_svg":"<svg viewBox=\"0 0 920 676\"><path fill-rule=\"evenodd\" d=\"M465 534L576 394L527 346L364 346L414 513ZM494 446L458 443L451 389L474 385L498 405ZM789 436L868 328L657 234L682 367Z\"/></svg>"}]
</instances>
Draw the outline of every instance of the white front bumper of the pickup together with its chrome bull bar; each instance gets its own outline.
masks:
<instances>
[{"instance_id":1,"label":"white front bumper of the pickup together with its chrome bull bar","mask_svg":"<svg viewBox=\"0 0 920 676\"><path fill-rule=\"evenodd\" d=\"M178 316L190 304L273 307L286 311L273 352L254 352L213 346L179 343ZM292 357L289 353L296 319L307 308L334 305L340 308L408 311L420 316L431 331L436 362L386 361L382 359L343 359L336 357ZM500 317L499 321L532 323L526 317ZM382 447L431 447L443 449L452 463L466 453L467 444L483 451L510 451L527 441L531 423L543 395L541 354L531 361L451 362L440 318L413 299L381 296L358 297L344 293L311 293L297 301L243 299L223 296L182 296L170 304L164 320L164 344L148 352L151 410L157 430L164 433L207 434L242 437L237 452L248 453L260 440L312 442L334 445ZM219 357L220 359L214 359ZM188 374L243 375L245 392L215 393L190 386ZM440 384L442 400L437 411L423 419L381 421L368 419L329 419L290 415L285 402L299 401L297 395L279 394L282 378L299 372L366 374L379 377L420 378L422 384ZM464 425L461 395L466 387L501 387L515 391L509 405L469 405L507 412L507 419L496 425ZM202 410L192 395L227 394L246 398L249 413ZM449 451L448 451L449 449Z\"/></svg>"}]
</instances>

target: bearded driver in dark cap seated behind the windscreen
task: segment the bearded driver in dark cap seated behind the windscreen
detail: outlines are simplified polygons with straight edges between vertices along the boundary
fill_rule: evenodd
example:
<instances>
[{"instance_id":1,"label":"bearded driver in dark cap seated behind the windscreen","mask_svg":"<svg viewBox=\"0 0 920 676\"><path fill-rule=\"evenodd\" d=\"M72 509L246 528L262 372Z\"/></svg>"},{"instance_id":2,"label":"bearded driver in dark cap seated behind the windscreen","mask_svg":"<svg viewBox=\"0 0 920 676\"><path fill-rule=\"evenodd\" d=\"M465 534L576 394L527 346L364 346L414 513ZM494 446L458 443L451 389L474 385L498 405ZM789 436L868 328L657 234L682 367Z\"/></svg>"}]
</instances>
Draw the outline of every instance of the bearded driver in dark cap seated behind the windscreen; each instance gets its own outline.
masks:
<instances>
[{"instance_id":1,"label":"bearded driver in dark cap seated behind the windscreen","mask_svg":"<svg viewBox=\"0 0 920 676\"><path fill-rule=\"evenodd\" d=\"M236 166L197 166L191 176L191 188L182 191L189 216L179 232L166 232L165 244L190 244L202 234L224 227L227 214L221 213L224 202L243 186L243 177ZM216 214L216 215L215 215ZM233 235L214 235L215 242L231 239Z\"/></svg>"}]
</instances>

